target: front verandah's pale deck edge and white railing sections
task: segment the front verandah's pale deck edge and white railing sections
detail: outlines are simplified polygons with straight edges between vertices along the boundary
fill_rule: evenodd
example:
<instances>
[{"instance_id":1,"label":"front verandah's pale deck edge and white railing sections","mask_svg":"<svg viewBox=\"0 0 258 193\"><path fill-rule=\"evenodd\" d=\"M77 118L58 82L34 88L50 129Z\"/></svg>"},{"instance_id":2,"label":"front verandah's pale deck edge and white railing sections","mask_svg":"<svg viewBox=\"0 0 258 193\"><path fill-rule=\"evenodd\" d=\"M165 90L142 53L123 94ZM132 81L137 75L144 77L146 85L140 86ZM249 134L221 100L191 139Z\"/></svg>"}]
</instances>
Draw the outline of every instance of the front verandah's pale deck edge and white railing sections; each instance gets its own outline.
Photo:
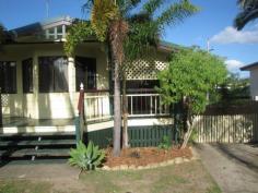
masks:
<instances>
[{"instance_id":1,"label":"front verandah's pale deck edge and white railing sections","mask_svg":"<svg viewBox=\"0 0 258 193\"><path fill-rule=\"evenodd\" d=\"M130 126L169 124L169 111L161 105L157 94L127 95ZM113 128L113 97L107 95L85 96L85 121L87 132ZM20 132L74 132L74 119L32 119L3 117L2 133Z\"/></svg>"}]
</instances>

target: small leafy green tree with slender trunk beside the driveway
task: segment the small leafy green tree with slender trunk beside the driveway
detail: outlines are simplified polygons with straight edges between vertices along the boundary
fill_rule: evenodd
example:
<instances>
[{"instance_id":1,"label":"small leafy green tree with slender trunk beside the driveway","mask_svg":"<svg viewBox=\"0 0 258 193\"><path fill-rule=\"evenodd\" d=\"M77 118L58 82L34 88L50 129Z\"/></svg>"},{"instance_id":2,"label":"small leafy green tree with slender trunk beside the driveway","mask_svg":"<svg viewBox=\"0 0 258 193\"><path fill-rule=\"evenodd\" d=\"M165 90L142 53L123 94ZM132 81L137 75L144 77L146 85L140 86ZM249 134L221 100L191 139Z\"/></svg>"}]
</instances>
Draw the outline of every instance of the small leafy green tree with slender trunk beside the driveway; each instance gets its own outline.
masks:
<instances>
[{"instance_id":1,"label":"small leafy green tree with slender trunk beside the driveway","mask_svg":"<svg viewBox=\"0 0 258 193\"><path fill-rule=\"evenodd\" d=\"M197 48L174 52L168 68L159 74L157 91L163 102L178 104L183 112L179 118L184 131L183 148L192 132L194 116L204 111L209 102L207 95L225 81L226 74L223 60Z\"/></svg>"}]
</instances>

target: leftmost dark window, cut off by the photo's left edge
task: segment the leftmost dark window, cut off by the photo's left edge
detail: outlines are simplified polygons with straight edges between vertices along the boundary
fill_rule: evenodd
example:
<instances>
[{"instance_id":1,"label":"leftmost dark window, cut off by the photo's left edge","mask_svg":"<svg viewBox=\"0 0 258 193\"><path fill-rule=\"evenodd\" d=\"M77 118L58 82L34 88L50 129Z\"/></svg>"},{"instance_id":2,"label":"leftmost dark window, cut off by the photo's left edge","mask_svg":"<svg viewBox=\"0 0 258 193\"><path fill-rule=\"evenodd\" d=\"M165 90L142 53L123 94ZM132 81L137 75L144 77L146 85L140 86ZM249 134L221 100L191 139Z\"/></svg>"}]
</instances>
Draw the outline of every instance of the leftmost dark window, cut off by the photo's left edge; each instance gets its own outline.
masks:
<instances>
[{"instance_id":1,"label":"leftmost dark window, cut off by the photo's left edge","mask_svg":"<svg viewBox=\"0 0 258 193\"><path fill-rule=\"evenodd\" d=\"M0 61L0 87L1 93L16 93L16 63L12 61Z\"/></svg>"}]
</instances>

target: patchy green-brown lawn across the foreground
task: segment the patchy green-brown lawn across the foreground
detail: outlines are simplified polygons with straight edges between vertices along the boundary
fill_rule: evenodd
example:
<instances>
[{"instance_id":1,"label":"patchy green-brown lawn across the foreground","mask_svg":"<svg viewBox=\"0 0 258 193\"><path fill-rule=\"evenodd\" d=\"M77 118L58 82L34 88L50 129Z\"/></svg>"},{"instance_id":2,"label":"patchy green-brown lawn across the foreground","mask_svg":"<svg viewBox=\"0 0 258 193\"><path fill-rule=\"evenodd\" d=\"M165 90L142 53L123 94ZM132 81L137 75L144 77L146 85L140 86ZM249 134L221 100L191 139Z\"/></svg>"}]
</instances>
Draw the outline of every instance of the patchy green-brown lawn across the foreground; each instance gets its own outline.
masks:
<instances>
[{"instance_id":1,"label":"patchy green-brown lawn across the foreground","mask_svg":"<svg viewBox=\"0 0 258 193\"><path fill-rule=\"evenodd\" d=\"M80 180L0 180L0 193L221 193L200 161L138 171L91 171Z\"/></svg>"}]
</instances>

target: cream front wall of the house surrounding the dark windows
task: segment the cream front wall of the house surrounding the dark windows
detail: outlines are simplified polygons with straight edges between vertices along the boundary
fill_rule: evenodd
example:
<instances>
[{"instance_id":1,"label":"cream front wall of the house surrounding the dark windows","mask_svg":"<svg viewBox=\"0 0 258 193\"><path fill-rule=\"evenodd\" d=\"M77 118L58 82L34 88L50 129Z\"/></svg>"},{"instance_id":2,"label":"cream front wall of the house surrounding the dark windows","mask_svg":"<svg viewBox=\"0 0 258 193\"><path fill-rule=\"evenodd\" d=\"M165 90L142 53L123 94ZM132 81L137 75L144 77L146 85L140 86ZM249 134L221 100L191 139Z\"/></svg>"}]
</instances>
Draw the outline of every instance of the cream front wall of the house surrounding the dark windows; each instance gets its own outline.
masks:
<instances>
[{"instance_id":1,"label":"cream front wall of the house surrounding the dark windows","mask_svg":"<svg viewBox=\"0 0 258 193\"><path fill-rule=\"evenodd\" d=\"M10 117L28 117L33 119L66 119L73 118L77 112L79 93L75 92L74 60L69 58L68 64L68 93L39 93L38 92L38 57L64 56L62 44L8 46L0 53L0 61L16 61L16 94L2 95L4 106L2 112ZM97 89L108 89L108 71L105 52L96 44L80 47L77 56L96 58ZM22 60L33 58L32 94L23 94L22 88ZM46 77L47 79L47 77Z\"/></svg>"}]
</instances>

